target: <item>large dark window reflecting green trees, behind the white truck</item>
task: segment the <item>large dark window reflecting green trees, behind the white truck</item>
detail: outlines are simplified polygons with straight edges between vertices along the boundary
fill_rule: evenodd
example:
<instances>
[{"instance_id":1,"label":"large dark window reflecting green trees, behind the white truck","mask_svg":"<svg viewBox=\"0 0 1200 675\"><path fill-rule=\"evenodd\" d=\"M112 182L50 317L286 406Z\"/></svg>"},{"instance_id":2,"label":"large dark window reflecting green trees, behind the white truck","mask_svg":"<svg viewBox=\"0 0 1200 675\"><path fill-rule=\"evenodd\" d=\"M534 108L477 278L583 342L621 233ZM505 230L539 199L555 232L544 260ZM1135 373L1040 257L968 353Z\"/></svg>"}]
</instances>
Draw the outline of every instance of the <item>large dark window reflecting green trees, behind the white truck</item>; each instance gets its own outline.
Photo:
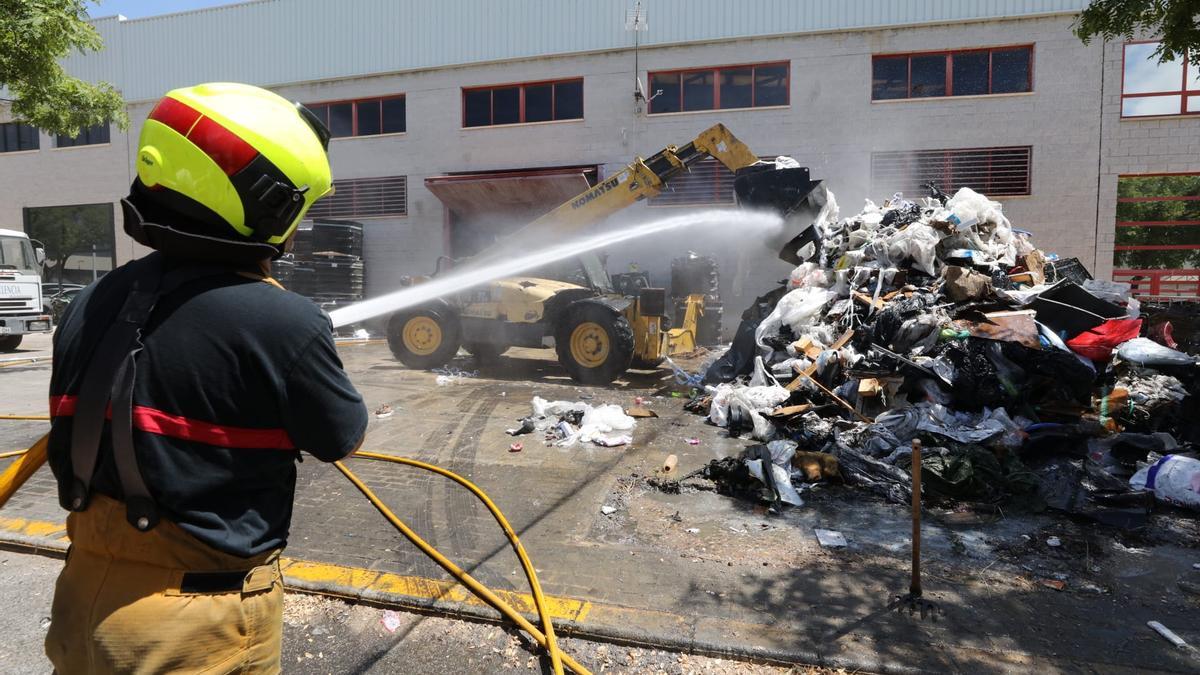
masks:
<instances>
[{"instance_id":1,"label":"large dark window reflecting green trees, behind the white truck","mask_svg":"<svg viewBox=\"0 0 1200 675\"><path fill-rule=\"evenodd\" d=\"M62 285L62 273L71 256L90 255L92 245L113 249L113 207L79 204L29 209L25 232L46 246L46 259Z\"/></svg>"}]
</instances>

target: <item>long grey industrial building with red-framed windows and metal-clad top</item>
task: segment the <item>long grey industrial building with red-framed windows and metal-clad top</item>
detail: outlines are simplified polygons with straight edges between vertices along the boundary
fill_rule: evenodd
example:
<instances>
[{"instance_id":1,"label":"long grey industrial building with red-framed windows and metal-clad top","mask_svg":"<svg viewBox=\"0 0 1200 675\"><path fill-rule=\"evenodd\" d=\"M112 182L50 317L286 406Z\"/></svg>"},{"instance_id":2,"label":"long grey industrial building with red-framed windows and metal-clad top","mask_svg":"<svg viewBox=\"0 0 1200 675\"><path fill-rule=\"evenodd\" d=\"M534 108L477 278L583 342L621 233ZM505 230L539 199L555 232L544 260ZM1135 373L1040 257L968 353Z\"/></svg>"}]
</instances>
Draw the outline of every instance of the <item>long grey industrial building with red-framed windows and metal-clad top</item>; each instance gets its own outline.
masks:
<instances>
[{"instance_id":1,"label":"long grey industrial building with red-framed windows and metal-clad top","mask_svg":"<svg viewBox=\"0 0 1200 675\"><path fill-rule=\"evenodd\" d=\"M140 121L172 88L235 80L329 123L336 195L312 215L364 223L368 295L724 123L810 167L844 213L926 180L970 185L1097 277L1196 297L1200 74L1156 64L1152 42L1081 44L1084 5L257 0L97 18L104 50L66 66L115 84L131 127L2 125L0 227L100 227L106 267L137 257L116 202ZM634 215L730 205L731 184L706 163ZM647 251L611 251L610 270L662 279L670 257ZM731 307L787 270L715 253Z\"/></svg>"}]
</instances>

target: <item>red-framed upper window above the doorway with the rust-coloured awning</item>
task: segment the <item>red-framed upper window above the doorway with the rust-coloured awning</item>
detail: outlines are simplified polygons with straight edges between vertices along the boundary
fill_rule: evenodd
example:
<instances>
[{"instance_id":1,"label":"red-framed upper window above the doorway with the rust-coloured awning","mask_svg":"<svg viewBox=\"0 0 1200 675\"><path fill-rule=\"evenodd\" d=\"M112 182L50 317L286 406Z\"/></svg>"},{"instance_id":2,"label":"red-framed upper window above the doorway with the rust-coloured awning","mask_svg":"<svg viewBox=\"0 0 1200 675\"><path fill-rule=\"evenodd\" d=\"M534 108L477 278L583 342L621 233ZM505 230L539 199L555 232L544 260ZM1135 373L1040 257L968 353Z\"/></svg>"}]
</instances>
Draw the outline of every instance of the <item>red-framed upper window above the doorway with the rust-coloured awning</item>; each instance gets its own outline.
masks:
<instances>
[{"instance_id":1,"label":"red-framed upper window above the doorway with the rust-coloured awning","mask_svg":"<svg viewBox=\"0 0 1200 675\"><path fill-rule=\"evenodd\" d=\"M462 90L462 125L496 126L583 119L583 79Z\"/></svg>"}]
</instances>

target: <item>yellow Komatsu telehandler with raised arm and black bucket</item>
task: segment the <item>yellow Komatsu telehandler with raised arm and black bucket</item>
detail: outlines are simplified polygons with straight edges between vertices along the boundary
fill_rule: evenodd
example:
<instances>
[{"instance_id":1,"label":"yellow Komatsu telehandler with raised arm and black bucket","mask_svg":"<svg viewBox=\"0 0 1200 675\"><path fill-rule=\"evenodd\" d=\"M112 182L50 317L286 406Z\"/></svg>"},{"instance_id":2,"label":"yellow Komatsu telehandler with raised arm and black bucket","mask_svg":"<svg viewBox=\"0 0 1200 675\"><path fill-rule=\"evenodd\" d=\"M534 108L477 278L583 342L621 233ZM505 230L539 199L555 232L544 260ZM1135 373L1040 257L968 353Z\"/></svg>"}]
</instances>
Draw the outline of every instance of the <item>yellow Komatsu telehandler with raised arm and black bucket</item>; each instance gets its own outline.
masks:
<instances>
[{"instance_id":1,"label":"yellow Komatsu telehandler with raised arm and black bucket","mask_svg":"<svg viewBox=\"0 0 1200 675\"><path fill-rule=\"evenodd\" d=\"M662 192L666 184L704 157L714 157L737 177L738 204L779 211L800 221L823 202L820 180L808 168L775 168L738 141L725 125L703 131L683 147L668 145L648 160L636 157L624 169L563 203L514 233L506 241L529 241L540 235L577 233L602 219ZM798 244L804 234L784 246L780 257L798 264ZM502 259L514 252L511 244L493 245L473 258L440 258L434 275L450 267ZM667 299L662 288L640 288L623 295L600 257L578 256L565 280L535 276L499 279L452 297L396 312L388 319L388 345L409 368L445 365L463 347L480 359L494 358L509 347L546 347L553 344L559 363L577 382L606 384L625 370L650 369L664 356L695 348L696 322L703 297L689 298L682 325L668 328ZM420 279L410 280L419 283Z\"/></svg>"}]
</instances>

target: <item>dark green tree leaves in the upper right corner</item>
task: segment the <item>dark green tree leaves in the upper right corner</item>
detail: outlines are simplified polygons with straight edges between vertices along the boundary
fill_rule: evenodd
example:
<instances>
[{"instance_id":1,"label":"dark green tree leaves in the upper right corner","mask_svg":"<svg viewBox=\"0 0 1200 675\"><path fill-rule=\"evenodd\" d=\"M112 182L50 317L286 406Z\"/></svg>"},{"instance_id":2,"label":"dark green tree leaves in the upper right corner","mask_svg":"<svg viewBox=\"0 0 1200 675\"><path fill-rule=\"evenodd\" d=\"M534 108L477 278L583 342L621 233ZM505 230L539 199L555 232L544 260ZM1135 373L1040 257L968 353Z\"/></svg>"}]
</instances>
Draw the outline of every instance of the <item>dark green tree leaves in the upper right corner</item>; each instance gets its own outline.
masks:
<instances>
[{"instance_id":1,"label":"dark green tree leaves in the upper right corner","mask_svg":"<svg viewBox=\"0 0 1200 675\"><path fill-rule=\"evenodd\" d=\"M1092 0L1075 20L1075 35L1091 42L1159 37L1159 62L1187 56L1200 65L1200 0Z\"/></svg>"}]
</instances>

